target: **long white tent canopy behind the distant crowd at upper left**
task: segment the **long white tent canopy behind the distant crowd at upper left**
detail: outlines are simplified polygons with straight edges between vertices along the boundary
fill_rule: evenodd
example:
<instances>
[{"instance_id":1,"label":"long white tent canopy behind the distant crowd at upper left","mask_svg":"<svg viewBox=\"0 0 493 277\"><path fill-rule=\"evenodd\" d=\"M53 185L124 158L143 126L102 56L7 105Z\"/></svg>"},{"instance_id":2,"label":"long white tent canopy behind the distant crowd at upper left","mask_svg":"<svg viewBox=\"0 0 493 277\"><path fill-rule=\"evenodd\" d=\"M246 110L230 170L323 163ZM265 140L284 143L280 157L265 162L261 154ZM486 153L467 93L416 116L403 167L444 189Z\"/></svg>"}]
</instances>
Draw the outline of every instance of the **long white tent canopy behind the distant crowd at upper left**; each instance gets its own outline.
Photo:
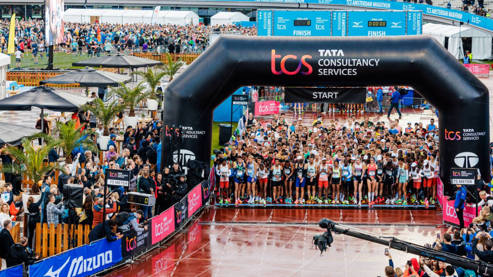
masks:
<instances>
[{"instance_id":1,"label":"long white tent canopy behind the distant crowd at upper left","mask_svg":"<svg viewBox=\"0 0 493 277\"><path fill-rule=\"evenodd\" d=\"M133 24L151 23L152 10L114 10L114 9L68 9L65 21L89 23L98 20L100 23ZM165 10L160 11L156 24L199 24L199 16L193 11Z\"/></svg>"}]
</instances>

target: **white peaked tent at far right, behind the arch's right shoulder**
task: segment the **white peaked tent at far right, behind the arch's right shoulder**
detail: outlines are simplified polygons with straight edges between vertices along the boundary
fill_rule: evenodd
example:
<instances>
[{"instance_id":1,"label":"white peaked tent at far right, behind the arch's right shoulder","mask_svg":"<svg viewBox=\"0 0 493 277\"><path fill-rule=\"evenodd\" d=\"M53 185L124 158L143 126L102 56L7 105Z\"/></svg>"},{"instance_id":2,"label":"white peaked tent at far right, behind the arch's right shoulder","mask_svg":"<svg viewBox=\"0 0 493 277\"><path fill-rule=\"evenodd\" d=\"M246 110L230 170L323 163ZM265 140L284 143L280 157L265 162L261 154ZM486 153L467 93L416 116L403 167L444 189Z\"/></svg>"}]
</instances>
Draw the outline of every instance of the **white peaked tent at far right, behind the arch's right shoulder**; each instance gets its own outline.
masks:
<instances>
[{"instance_id":1,"label":"white peaked tent at far right, behind the arch's right shoulder","mask_svg":"<svg viewBox=\"0 0 493 277\"><path fill-rule=\"evenodd\" d=\"M474 28L465 27L465 25L459 27L427 23L423 25L423 35L433 36L443 46L448 40L447 50L457 59L464 57L465 51L461 41L463 37L472 38L473 59L490 59L492 56L492 36Z\"/></svg>"}]
</instances>

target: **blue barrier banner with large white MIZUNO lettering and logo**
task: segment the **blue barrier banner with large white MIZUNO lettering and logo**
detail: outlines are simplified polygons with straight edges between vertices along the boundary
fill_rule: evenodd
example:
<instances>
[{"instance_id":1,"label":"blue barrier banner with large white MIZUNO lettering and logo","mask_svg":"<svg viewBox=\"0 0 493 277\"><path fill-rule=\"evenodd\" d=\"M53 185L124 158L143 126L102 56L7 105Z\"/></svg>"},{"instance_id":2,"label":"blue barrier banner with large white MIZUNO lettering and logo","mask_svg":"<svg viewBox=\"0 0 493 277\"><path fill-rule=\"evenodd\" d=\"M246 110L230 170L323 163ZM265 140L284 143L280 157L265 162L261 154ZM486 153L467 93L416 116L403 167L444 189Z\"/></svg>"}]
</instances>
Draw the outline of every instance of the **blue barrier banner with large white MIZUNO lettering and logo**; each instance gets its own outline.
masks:
<instances>
[{"instance_id":1,"label":"blue barrier banner with large white MIZUNO lettering and logo","mask_svg":"<svg viewBox=\"0 0 493 277\"><path fill-rule=\"evenodd\" d=\"M121 242L106 239L69 250L29 266L30 276L83 277L96 274L122 260Z\"/></svg>"}]
</instances>

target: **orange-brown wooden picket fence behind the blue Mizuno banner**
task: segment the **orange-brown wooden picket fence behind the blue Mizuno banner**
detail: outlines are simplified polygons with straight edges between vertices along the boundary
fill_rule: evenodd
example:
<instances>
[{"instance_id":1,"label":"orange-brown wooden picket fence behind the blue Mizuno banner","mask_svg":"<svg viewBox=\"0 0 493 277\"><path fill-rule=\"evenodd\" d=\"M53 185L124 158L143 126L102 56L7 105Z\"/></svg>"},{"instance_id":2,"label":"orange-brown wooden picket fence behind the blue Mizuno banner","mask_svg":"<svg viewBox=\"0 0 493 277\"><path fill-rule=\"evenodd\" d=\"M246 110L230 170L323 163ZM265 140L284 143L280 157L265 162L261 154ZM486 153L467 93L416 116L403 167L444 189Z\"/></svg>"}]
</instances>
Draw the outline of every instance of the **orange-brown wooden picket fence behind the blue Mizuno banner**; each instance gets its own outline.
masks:
<instances>
[{"instance_id":1,"label":"orange-brown wooden picket fence behind the blue Mizuno banner","mask_svg":"<svg viewBox=\"0 0 493 277\"><path fill-rule=\"evenodd\" d=\"M72 233L75 228L75 233ZM63 251L69 250L69 235L72 240L72 235L75 234L77 247L83 244L89 244L89 233L91 232L90 225L72 225L70 224L58 224L55 226L53 223L48 228L47 223L36 223L35 231L35 249L40 253L40 258L46 258Z\"/></svg>"}]
</instances>

